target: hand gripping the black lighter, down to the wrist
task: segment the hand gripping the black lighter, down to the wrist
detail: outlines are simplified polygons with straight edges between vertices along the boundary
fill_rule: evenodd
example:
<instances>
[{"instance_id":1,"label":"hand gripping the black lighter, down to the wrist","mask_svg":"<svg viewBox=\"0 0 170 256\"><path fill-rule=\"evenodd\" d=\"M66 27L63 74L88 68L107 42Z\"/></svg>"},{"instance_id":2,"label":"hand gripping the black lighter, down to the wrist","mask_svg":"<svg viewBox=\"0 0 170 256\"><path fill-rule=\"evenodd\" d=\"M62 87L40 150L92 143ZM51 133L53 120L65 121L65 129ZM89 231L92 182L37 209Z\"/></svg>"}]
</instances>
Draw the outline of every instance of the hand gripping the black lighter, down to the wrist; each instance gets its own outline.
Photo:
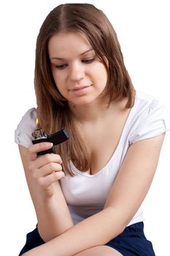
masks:
<instances>
[{"instance_id":1,"label":"hand gripping the black lighter, down to the wrist","mask_svg":"<svg viewBox=\"0 0 170 256\"><path fill-rule=\"evenodd\" d=\"M53 143L45 142L28 148L28 176L31 178L34 194L42 195L43 198L53 196L54 182L64 176L61 157L58 154L36 156L37 152L50 149L52 146Z\"/></svg>"}]
</instances>

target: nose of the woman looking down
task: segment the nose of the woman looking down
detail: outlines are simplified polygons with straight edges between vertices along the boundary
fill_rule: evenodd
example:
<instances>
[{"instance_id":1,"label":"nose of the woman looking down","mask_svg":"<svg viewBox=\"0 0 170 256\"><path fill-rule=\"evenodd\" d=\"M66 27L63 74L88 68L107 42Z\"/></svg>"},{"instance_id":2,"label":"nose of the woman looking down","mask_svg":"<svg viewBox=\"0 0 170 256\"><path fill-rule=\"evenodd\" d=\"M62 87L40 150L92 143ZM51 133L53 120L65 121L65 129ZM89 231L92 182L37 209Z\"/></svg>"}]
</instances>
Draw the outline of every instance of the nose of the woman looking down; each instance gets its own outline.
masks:
<instances>
[{"instance_id":1,"label":"nose of the woman looking down","mask_svg":"<svg viewBox=\"0 0 170 256\"><path fill-rule=\"evenodd\" d=\"M81 64L74 63L70 67L69 77L71 81L77 82L85 77L85 69Z\"/></svg>"}]
</instances>

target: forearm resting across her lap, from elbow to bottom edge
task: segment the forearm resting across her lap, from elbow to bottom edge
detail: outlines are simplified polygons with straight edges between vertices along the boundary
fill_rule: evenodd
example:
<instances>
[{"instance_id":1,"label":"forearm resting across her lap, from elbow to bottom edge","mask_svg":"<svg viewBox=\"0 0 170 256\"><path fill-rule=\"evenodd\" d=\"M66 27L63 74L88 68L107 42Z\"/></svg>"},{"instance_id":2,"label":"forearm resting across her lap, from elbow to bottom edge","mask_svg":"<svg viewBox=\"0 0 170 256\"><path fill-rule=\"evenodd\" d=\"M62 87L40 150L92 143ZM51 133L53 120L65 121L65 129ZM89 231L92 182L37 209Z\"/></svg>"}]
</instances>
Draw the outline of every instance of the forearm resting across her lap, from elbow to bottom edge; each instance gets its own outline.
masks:
<instances>
[{"instance_id":1,"label":"forearm resting across her lap, from elbow to bottom edge","mask_svg":"<svg viewBox=\"0 0 170 256\"><path fill-rule=\"evenodd\" d=\"M28 256L71 256L93 246L106 244L125 228L123 216L113 208L83 220L61 236L27 252Z\"/></svg>"}]
</instances>

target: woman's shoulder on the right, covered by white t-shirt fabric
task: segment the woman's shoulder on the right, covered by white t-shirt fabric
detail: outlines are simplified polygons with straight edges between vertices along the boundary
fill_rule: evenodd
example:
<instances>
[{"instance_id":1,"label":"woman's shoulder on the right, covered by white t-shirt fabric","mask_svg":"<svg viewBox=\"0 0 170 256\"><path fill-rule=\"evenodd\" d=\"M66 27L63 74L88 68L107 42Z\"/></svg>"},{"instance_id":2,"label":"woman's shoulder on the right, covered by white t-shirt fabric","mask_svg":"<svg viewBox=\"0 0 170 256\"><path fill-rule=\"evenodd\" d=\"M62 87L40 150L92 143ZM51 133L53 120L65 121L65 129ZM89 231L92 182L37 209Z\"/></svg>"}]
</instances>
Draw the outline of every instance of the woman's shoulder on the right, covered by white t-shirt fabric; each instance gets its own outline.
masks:
<instances>
[{"instance_id":1,"label":"woman's shoulder on the right, covered by white t-shirt fabric","mask_svg":"<svg viewBox=\"0 0 170 256\"><path fill-rule=\"evenodd\" d=\"M136 91L131 118L130 143L152 138L170 130L170 116L166 105L150 94Z\"/></svg>"}]
</instances>

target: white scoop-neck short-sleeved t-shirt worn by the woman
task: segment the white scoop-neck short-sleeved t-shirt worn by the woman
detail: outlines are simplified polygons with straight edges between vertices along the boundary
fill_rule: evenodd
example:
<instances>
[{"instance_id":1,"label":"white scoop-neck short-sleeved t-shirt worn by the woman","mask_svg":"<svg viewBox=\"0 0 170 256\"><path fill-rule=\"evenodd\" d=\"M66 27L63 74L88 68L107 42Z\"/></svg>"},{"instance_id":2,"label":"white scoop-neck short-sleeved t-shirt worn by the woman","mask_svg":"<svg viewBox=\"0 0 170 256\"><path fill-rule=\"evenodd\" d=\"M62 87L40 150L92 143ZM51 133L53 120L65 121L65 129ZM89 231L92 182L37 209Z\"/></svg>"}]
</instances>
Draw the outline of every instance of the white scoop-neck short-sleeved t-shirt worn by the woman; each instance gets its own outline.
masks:
<instances>
[{"instance_id":1,"label":"white scoop-neck short-sleeved t-shirt worn by the woman","mask_svg":"<svg viewBox=\"0 0 170 256\"><path fill-rule=\"evenodd\" d=\"M31 146L31 133L34 129L36 129L36 108L31 108L15 130L15 142L26 148ZM136 141L161 135L169 129L170 116L163 103L142 91L136 91L134 107L131 108L120 141L109 162L93 175L82 173L71 162L75 176L66 175L60 180L74 224L104 208L107 195L128 147ZM143 214L142 208L139 208L128 225L141 221L143 221Z\"/></svg>"}]
</instances>

